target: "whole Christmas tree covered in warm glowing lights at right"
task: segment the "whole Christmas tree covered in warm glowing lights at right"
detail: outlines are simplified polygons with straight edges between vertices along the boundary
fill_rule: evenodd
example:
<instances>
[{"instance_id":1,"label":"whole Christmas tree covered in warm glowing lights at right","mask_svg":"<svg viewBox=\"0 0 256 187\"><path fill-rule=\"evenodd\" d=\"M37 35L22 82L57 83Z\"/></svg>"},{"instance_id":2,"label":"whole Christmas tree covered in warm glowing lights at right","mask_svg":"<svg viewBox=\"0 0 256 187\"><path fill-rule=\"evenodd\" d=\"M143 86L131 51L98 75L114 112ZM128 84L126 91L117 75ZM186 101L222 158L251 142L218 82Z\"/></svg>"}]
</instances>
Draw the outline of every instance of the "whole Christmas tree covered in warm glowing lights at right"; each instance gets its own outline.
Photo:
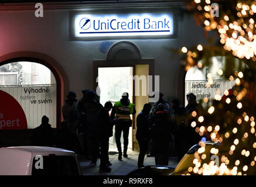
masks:
<instances>
[{"instance_id":1,"label":"whole Christmas tree covered in warm glowing lights at right","mask_svg":"<svg viewBox=\"0 0 256 187\"><path fill-rule=\"evenodd\" d=\"M218 16L215 3L219 6ZM186 71L194 65L199 68L211 65L209 58L213 56L238 57L253 67L251 62L256 61L255 1L191 0L187 9L206 31L219 32L220 43L217 46L199 44L190 50L182 47L180 52L186 54L183 60ZM217 93L212 106L191 113L193 122L189 125L200 136L219 142L221 146L206 150L206 144L200 141L200 148L194 153L193 167L189 167L185 175L256 175L255 70L247 68L234 72L228 66L218 70L219 75L235 81L232 93ZM207 80L209 88L213 84L211 74L207 74ZM208 99L202 102L207 103ZM209 158L210 155L219 156L219 166Z\"/></svg>"}]
</instances>

